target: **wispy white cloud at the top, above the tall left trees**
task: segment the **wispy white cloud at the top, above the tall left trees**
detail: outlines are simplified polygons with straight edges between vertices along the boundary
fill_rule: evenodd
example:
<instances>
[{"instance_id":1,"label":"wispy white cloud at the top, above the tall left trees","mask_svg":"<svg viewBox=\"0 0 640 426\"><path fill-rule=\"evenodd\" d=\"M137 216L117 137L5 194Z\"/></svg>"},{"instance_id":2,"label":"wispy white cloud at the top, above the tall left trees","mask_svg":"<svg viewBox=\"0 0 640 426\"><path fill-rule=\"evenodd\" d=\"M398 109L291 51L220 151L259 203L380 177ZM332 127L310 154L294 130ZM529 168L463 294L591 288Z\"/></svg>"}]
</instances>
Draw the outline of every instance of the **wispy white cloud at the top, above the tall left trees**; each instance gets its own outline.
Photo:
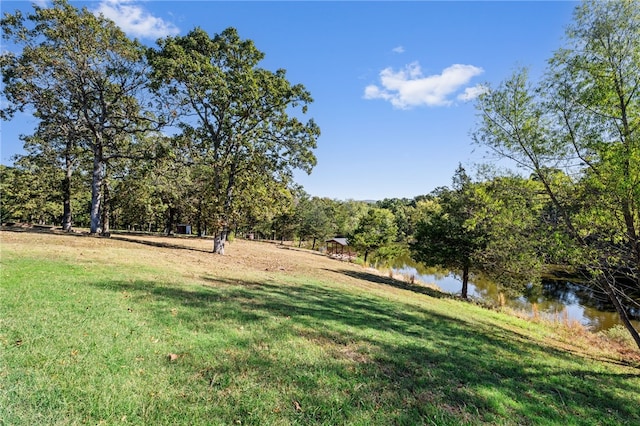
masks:
<instances>
[{"instance_id":1,"label":"wispy white cloud at the top, above the tall left trees","mask_svg":"<svg viewBox=\"0 0 640 426\"><path fill-rule=\"evenodd\" d=\"M101 13L134 37L157 39L180 32L171 22L153 16L130 0L102 0L94 13Z\"/></svg>"}]
</instances>

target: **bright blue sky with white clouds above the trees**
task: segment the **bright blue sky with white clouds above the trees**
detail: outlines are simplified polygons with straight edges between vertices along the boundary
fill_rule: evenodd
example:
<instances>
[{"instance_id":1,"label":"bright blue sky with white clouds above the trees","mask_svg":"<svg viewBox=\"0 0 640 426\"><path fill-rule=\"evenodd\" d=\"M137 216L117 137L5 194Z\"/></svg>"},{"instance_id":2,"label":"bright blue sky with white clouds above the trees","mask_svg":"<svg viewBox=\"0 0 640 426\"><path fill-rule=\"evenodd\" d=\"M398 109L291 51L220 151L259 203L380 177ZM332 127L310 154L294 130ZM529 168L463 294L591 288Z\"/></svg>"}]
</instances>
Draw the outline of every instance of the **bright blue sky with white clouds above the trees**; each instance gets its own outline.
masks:
<instances>
[{"instance_id":1,"label":"bright blue sky with white clouds above the trees","mask_svg":"<svg viewBox=\"0 0 640 426\"><path fill-rule=\"evenodd\" d=\"M47 5L46 1L36 2ZM517 67L533 77L563 45L578 5L570 1L411 2L71 2L102 12L153 45L201 27L235 27L265 53L261 66L284 68L314 98L308 116L322 135L318 164L296 181L333 199L413 198L450 186L461 163L489 161L472 144L473 98ZM2 12L31 2L2 1ZM3 49L10 48L3 46ZM2 122L0 161L21 153L35 122Z\"/></svg>"}]
</instances>

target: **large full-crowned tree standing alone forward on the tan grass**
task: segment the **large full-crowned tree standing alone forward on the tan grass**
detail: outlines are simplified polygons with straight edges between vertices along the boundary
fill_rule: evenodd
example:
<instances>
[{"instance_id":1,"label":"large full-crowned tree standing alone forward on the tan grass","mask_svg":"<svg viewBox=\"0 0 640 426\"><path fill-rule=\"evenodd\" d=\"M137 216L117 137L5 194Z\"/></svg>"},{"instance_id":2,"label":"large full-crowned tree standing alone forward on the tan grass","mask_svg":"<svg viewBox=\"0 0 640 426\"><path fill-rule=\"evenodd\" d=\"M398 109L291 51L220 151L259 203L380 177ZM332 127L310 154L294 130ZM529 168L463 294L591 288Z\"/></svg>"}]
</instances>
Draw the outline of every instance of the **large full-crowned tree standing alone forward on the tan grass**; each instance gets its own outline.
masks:
<instances>
[{"instance_id":1,"label":"large full-crowned tree standing alone forward on the tan grass","mask_svg":"<svg viewBox=\"0 0 640 426\"><path fill-rule=\"evenodd\" d=\"M291 85L285 70L258 67L264 53L234 28L213 38L196 28L159 40L148 58L154 90L192 141L191 161L209 171L211 222L219 230L214 252L222 254L241 181L255 175L287 181L293 169L310 173L315 165L320 130L290 115L306 113L311 95Z\"/></svg>"}]
</instances>

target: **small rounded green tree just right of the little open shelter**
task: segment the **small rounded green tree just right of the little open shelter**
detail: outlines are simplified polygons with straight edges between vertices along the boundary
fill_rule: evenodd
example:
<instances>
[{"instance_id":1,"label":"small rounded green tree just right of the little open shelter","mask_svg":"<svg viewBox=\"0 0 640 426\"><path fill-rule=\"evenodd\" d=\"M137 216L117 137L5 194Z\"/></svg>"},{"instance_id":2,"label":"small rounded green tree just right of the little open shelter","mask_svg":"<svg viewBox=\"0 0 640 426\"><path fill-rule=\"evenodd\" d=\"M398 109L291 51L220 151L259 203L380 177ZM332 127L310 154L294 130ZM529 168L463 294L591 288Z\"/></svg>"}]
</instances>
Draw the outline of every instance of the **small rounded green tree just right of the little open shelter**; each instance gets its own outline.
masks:
<instances>
[{"instance_id":1,"label":"small rounded green tree just right of the little open shelter","mask_svg":"<svg viewBox=\"0 0 640 426\"><path fill-rule=\"evenodd\" d=\"M398 233L393 213L387 209L370 208L358 222L358 226L347 236L349 245L364 252L364 263L368 255L392 243Z\"/></svg>"}]
</instances>

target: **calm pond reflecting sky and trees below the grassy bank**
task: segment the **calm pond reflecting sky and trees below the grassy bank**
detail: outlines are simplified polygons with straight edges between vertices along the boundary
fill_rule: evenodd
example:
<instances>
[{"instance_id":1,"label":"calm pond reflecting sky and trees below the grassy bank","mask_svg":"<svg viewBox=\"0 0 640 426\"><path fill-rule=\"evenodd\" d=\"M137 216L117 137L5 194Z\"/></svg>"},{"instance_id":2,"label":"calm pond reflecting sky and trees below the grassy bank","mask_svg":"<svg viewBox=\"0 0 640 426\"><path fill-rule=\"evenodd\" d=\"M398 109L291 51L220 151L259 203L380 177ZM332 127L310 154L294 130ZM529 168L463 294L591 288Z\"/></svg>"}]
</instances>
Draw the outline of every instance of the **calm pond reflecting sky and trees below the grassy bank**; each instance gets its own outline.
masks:
<instances>
[{"instance_id":1,"label":"calm pond reflecting sky and trees below the grassy bank","mask_svg":"<svg viewBox=\"0 0 640 426\"><path fill-rule=\"evenodd\" d=\"M392 266L394 273L404 276L415 276L417 281L434 284L443 292L460 294L462 280L455 274L435 268L424 268L415 264L402 262L402 266ZM543 281L540 287L531 287L526 294L519 297L501 296L498 286L482 278L471 278L468 288L469 298L499 303L502 299L505 306L559 321L578 321L593 331L607 330L621 324L617 312L606 297L592 290L566 280ZM640 328L640 310L631 312L634 315L634 326Z\"/></svg>"}]
</instances>

